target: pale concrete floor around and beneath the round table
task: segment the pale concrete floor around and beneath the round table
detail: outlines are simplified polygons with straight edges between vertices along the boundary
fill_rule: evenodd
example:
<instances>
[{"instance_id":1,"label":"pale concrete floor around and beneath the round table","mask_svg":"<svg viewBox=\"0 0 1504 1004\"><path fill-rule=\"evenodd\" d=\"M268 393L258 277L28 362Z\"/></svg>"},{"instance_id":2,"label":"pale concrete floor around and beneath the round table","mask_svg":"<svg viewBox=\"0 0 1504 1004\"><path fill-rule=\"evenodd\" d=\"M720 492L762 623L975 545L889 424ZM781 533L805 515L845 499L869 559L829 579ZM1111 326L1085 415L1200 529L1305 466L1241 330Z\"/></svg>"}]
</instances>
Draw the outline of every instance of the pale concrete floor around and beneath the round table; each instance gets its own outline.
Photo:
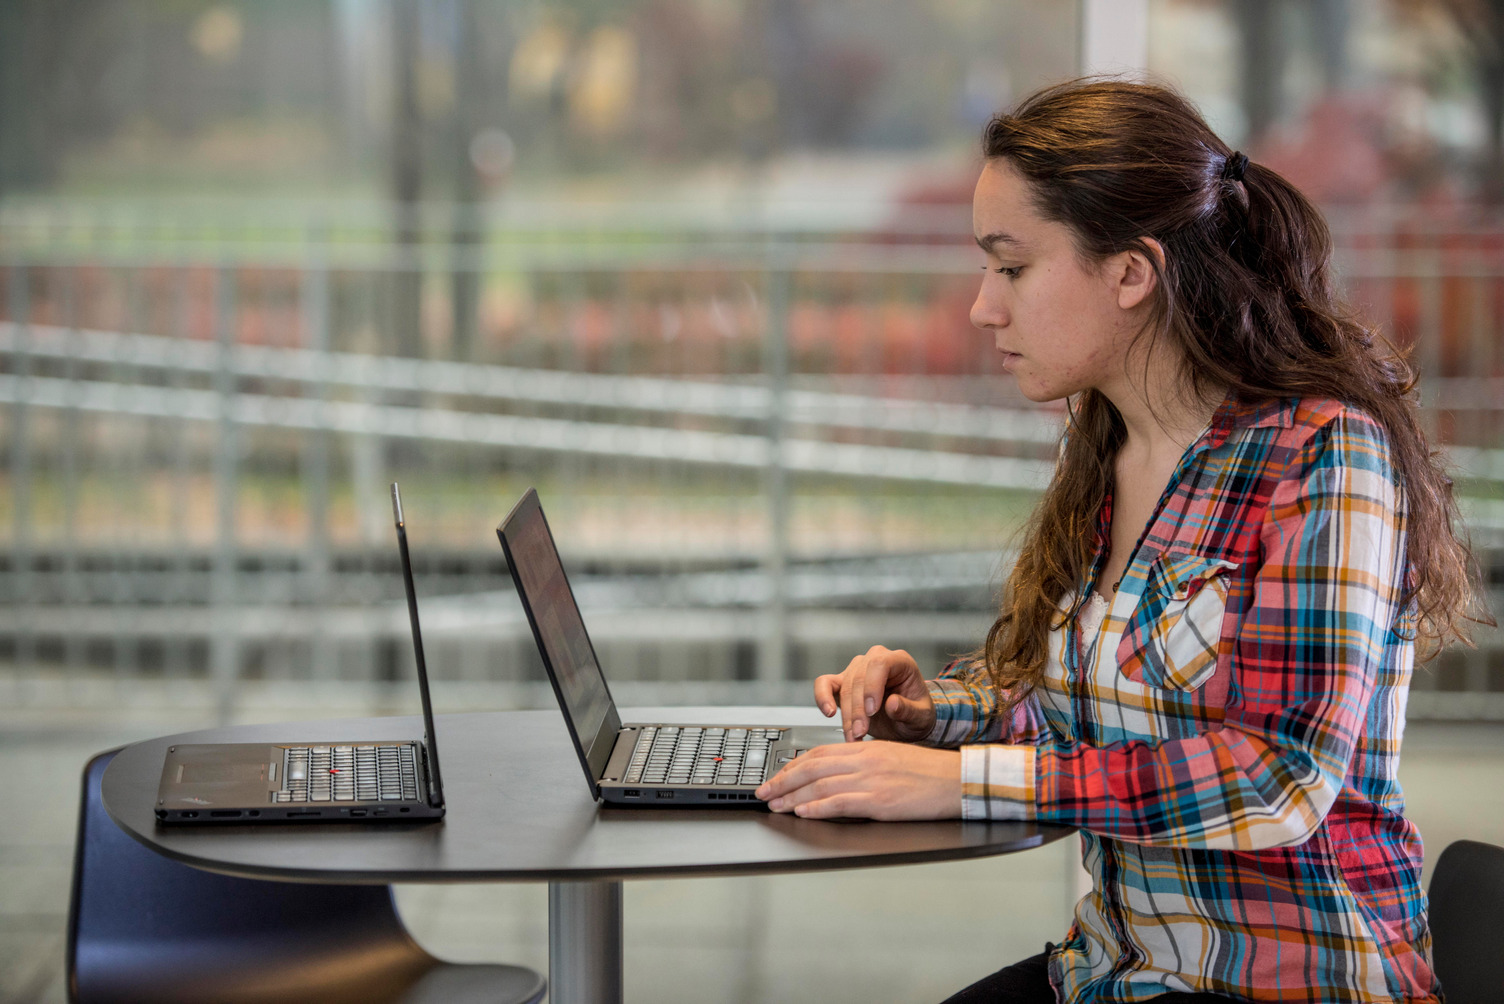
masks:
<instances>
[{"instance_id":1,"label":"pale concrete floor around and beneath the round table","mask_svg":"<svg viewBox=\"0 0 1504 1004\"><path fill-rule=\"evenodd\" d=\"M14 691L0 697L9 697L0 699L0 800L32 806L0 815L0 1001L65 1001L78 771L98 750L206 721L191 705L47 708ZM236 717L277 720L278 703L263 694ZM307 715L289 699L280 717ZM1451 840L1504 843L1504 726L1414 723L1400 777L1426 839L1427 878ZM937 1001L1065 932L1075 852L1075 840L1063 840L955 864L627 882L627 999ZM547 969L541 884L408 885L397 899L441 957Z\"/></svg>"}]
</instances>

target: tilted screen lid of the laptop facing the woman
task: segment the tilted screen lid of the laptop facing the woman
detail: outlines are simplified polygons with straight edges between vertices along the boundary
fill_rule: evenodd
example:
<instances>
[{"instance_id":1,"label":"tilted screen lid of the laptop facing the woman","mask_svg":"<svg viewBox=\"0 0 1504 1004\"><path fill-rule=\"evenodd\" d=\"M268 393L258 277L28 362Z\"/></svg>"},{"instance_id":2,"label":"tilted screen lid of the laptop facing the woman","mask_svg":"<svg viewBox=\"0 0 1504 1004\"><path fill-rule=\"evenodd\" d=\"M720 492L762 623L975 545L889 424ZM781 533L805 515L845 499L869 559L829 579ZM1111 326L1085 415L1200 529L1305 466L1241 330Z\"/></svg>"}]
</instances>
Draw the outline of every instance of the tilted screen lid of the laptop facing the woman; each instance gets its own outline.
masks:
<instances>
[{"instance_id":1,"label":"tilted screen lid of the laptop facing the woman","mask_svg":"<svg viewBox=\"0 0 1504 1004\"><path fill-rule=\"evenodd\" d=\"M611 748L621 730L621 715L611 699L606 676L600 672L596 646L585 631L575 591L564 574L553 534L534 488L528 488L511 508L496 528L496 537L507 553L511 579L517 583L517 595L538 643L543 669L553 684L553 694L564 712L570 738L575 739L575 751L590 780L590 792L600 798L597 779L605 774L611 759Z\"/></svg>"}]
</instances>

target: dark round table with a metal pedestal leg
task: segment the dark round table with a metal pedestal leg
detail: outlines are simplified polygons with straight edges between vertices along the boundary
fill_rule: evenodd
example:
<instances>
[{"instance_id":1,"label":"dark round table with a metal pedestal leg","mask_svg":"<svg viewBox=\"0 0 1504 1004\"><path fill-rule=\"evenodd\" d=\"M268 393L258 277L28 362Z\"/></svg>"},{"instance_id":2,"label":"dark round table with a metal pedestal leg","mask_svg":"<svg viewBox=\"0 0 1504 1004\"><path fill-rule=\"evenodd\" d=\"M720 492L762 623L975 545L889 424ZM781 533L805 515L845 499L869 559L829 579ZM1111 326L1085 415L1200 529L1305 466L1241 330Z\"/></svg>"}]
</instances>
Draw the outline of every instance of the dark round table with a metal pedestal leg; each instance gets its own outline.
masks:
<instances>
[{"instance_id":1,"label":"dark round table with a metal pedestal leg","mask_svg":"<svg viewBox=\"0 0 1504 1004\"><path fill-rule=\"evenodd\" d=\"M633 708L624 721L830 724L814 708ZM1009 854L1071 833L1030 822L800 819L747 807L615 809L591 800L558 711L439 715L447 815L429 824L159 827L177 742L408 739L418 717L206 729L122 750L104 776L110 816L170 858L295 882L549 882L552 999L621 999L621 881L914 864Z\"/></svg>"}]
</instances>

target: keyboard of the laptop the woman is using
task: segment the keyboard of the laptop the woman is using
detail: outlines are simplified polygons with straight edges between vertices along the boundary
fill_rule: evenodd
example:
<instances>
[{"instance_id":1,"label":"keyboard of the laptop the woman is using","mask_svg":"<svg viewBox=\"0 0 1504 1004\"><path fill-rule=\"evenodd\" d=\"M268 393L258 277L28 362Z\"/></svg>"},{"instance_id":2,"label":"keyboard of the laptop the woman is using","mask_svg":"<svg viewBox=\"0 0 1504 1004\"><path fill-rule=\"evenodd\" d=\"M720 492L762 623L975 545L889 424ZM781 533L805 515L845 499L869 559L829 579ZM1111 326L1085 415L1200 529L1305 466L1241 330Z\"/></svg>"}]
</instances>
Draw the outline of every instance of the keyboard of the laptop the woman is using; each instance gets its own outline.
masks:
<instances>
[{"instance_id":1,"label":"keyboard of the laptop the woman is using","mask_svg":"<svg viewBox=\"0 0 1504 1004\"><path fill-rule=\"evenodd\" d=\"M782 729L645 726L627 764L629 785L761 785Z\"/></svg>"}]
</instances>

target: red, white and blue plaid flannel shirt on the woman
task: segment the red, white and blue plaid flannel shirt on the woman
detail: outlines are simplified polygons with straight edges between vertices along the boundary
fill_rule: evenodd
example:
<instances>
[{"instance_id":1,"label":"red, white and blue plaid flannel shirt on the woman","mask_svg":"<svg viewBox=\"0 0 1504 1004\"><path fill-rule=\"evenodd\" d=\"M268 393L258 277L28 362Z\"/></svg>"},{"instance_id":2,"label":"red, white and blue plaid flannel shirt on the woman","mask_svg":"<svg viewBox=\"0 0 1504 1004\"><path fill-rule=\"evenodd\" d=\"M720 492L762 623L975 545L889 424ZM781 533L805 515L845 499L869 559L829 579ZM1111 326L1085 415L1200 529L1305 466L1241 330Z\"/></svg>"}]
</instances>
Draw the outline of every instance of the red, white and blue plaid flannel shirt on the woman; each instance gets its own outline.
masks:
<instances>
[{"instance_id":1,"label":"red, white and blue plaid flannel shirt on the woman","mask_svg":"<svg viewBox=\"0 0 1504 1004\"><path fill-rule=\"evenodd\" d=\"M1086 591L1110 520L1108 499ZM1229 400L1099 633L1056 630L1008 720L957 666L931 681L966 818L1081 830L1093 884L1050 956L1062 1001L1438 999L1396 774L1403 576L1384 428L1328 400Z\"/></svg>"}]
</instances>

